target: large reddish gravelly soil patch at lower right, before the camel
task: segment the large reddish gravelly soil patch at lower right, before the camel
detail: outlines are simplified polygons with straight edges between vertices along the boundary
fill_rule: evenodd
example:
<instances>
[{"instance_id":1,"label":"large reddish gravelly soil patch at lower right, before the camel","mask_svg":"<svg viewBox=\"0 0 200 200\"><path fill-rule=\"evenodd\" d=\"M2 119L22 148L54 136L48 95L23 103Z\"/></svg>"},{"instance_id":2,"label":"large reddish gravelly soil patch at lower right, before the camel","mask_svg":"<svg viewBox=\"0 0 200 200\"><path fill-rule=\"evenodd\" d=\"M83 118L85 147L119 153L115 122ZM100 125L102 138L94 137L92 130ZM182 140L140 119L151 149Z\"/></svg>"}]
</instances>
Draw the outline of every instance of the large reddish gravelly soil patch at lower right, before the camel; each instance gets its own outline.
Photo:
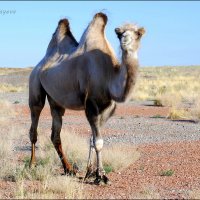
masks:
<instances>
[{"instance_id":1,"label":"large reddish gravelly soil patch at lower right, before the camel","mask_svg":"<svg viewBox=\"0 0 200 200\"><path fill-rule=\"evenodd\" d=\"M189 191L200 188L199 141L141 145L138 151L134 164L109 174L111 186L88 186L92 198L145 198L150 192L151 198L188 199ZM160 175L170 169L172 176Z\"/></svg>"}]
</instances>

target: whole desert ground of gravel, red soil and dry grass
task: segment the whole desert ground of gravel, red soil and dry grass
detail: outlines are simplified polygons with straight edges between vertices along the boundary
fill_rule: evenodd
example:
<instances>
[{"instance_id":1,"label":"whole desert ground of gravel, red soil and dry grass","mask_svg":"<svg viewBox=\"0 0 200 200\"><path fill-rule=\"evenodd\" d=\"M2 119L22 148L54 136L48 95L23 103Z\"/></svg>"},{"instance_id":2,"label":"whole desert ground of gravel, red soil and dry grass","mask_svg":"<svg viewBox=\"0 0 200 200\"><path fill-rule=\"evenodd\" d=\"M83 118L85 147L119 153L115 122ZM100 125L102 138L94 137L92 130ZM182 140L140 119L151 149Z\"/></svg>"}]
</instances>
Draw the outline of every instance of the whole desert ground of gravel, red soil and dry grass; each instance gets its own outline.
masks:
<instances>
[{"instance_id":1,"label":"whole desert ground of gravel, red soil and dry grass","mask_svg":"<svg viewBox=\"0 0 200 200\"><path fill-rule=\"evenodd\" d=\"M102 128L111 184L84 182L91 135L83 111L66 110L61 138L76 177L63 175L46 102L31 154L31 68L0 68L0 198L200 199L200 67L144 67L129 102Z\"/></svg>"}]
</instances>

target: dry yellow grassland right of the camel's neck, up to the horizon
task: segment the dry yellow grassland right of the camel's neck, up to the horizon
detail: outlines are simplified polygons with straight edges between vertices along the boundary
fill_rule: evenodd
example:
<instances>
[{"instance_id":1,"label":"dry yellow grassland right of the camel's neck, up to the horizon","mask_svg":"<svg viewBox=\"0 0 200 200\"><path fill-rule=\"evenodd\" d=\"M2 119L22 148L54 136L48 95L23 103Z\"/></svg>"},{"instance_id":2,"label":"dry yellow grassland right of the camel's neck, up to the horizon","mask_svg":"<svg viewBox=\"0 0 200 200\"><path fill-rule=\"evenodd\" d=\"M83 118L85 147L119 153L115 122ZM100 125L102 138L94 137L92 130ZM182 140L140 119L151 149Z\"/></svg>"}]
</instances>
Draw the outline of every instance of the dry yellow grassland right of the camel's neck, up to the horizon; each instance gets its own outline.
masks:
<instances>
[{"instance_id":1,"label":"dry yellow grassland right of the camel's neck, up to the horizon","mask_svg":"<svg viewBox=\"0 0 200 200\"><path fill-rule=\"evenodd\" d=\"M170 107L168 118L200 118L200 66L141 68L133 100Z\"/></svg>"}]
</instances>

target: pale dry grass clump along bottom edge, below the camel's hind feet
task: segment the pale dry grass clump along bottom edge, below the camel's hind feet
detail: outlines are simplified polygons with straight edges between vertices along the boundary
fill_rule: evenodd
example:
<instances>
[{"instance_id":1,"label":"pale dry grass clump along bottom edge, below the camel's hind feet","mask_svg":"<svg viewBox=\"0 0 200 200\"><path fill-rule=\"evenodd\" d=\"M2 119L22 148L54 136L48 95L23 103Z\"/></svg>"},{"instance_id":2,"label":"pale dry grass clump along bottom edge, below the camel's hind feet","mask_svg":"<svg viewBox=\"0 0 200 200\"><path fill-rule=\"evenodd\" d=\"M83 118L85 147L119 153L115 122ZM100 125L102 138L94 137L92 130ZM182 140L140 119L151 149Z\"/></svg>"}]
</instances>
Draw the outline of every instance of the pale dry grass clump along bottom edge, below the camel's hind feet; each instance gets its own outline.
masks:
<instances>
[{"instance_id":1,"label":"pale dry grass clump along bottom edge, below the camel's hind feet","mask_svg":"<svg viewBox=\"0 0 200 200\"><path fill-rule=\"evenodd\" d=\"M21 179L17 182L16 198L85 199L87 197L83 184L67 176L55 177L51 175L43 181L36 182L34 185L32 184L31 188L27 187L28 183L29 182L25 179Z\"/></svg>"}]
</instances>

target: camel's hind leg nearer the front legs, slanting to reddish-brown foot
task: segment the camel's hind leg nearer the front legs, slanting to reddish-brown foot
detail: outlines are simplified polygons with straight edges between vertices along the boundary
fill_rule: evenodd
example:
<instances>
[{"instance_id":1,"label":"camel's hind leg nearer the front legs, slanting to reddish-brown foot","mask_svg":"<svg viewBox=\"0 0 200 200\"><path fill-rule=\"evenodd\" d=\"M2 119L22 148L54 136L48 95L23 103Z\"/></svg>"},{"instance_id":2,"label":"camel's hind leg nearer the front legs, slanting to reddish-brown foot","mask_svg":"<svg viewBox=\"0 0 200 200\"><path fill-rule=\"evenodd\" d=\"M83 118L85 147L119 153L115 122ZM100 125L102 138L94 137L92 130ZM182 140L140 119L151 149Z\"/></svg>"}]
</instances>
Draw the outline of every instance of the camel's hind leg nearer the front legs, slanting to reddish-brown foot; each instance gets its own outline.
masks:
<instances>
[{"instance_id":1,"label":"camel's hind leg nearer the front legs, slanting to reddish-brown foot","mask_svg":"<svg viewBox=\"0 0 200 200\"><path fill-rule=\"evenodd\" d=\"M60 160L63 165L64 173L65 174L76 174L76 169L73 169L69 161L67 160L66 156L64 155L62 149L62 143L60 138L60 132L62 128L62 116L65 113L65 109L59 106L50 96L48 97L48 101L51 108L51 115L52 115L52 133L51 133L51 141L60 157Z\"/></svg>"}]
</instances>

